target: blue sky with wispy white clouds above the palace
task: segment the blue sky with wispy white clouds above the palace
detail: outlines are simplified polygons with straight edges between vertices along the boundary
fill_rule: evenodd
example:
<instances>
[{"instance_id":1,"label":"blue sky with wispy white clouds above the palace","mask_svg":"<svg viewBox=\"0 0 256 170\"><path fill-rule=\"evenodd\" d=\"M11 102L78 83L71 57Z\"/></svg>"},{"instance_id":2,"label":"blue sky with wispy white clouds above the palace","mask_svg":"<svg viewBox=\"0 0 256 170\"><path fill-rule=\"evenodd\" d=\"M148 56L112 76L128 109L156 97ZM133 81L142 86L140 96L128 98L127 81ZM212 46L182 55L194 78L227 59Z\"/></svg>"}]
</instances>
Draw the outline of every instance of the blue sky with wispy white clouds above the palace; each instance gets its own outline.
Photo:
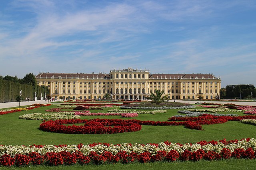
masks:
<instances>
[{"instance_id":1,"label":"blue sky with wispy white clouds above the palace","mask_svg":"<svg viewBox=\"0 0 256 170\"><path fill-rule=\"evenodd\" d=\"M2 0L0 75L212 73L256 85L255 0Z\"/></svg>"}]
</instances>

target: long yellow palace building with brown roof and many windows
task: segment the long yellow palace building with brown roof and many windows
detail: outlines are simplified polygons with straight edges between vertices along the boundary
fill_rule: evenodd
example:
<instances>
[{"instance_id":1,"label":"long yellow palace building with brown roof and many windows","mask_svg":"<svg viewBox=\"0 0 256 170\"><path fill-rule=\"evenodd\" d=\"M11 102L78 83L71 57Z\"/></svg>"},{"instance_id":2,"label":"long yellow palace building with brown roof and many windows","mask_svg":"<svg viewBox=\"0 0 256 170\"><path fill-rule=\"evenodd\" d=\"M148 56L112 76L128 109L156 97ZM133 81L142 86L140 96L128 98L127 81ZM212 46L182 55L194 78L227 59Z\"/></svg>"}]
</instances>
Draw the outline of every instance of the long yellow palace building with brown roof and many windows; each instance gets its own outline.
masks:
<instances>
[{"instance_id":1,"label":"long yellow palace building with brown roof and many windows","mask_svg":"<svg viewBox=\"0 0 256 170\"><path fill-rule=\"evenodd\" d=\"M219 97L220 77L213 74L150 74L149 70L110 70L103 73L40 73L38 85L48 86L53 97L64 99L102 99L105 93L112 99L145 100L150 92L164 89L170 99L204 99Z\"/></svg>"}]
</instances>

